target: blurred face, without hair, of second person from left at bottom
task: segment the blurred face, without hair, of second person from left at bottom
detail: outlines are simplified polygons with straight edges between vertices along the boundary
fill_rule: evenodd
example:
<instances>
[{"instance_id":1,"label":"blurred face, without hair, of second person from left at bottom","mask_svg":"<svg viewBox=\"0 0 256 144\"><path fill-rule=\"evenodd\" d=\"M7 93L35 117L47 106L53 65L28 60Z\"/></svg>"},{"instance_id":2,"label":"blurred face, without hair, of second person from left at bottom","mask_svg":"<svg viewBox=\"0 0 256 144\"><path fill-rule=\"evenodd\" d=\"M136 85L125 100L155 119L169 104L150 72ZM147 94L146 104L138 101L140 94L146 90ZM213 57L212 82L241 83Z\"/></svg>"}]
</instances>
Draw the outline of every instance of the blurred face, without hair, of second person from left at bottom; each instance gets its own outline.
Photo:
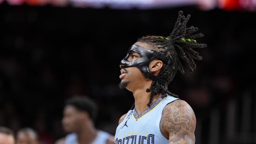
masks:
<instances>
[{"instance_id":1,"label":"blurred face, without hair, of second person from left at bottom","mask_svg":"<svg viewBox=\"0 0 256 144\"><path fill-rule=\"evenodd\" d=\"M19 132L17 134L17 144L38 144L36 135L32 133Z\"/></svg>"}]
</instances>

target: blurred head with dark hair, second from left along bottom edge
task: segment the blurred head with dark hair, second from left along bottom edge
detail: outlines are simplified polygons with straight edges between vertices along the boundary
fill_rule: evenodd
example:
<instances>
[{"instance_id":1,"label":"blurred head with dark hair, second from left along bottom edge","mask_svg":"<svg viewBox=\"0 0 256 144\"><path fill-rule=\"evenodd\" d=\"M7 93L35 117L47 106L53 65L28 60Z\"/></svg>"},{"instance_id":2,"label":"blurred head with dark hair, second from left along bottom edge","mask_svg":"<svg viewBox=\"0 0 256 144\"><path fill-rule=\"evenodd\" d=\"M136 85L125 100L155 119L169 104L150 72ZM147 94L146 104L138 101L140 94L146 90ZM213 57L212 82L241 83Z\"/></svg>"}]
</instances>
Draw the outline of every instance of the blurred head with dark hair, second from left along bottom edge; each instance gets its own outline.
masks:
<instances>
[{"instance_id":1,"label":"blurred head with dark hair, second from left along bottom edge","mask_svg":"<svg viewBox=\"0 0 256 144\"><path fill-rule=\"evenodd\" d=\"M37 133L31 128L18 130L16 141L16 144L39 144Z\"/></svg>"}]
</instances>

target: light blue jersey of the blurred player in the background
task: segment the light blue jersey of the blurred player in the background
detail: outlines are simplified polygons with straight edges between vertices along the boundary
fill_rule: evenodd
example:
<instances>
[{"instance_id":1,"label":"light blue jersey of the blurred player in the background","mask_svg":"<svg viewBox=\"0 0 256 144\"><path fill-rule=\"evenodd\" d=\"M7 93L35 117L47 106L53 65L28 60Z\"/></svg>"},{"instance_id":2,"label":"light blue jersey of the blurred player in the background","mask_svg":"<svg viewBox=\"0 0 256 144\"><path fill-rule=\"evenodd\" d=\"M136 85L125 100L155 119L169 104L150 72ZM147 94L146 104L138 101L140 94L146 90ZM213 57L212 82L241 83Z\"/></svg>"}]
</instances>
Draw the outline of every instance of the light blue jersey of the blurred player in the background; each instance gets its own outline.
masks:
<instances>
[{"instance_id":1,"label":"light blue jersey of the blurred player in the background","mask_svg":"<svg viewBox=\"0 0 256 144\"><path fill-rule=\"evenodd\" d=\"M91 144L106 144L109 136L110 136L109 133L99 130L97 133L97 137L94 139L94 141ZM77 142L76 134L70 133L66 135L65 144L79 144Z\"/></svg>"}]
</instances>

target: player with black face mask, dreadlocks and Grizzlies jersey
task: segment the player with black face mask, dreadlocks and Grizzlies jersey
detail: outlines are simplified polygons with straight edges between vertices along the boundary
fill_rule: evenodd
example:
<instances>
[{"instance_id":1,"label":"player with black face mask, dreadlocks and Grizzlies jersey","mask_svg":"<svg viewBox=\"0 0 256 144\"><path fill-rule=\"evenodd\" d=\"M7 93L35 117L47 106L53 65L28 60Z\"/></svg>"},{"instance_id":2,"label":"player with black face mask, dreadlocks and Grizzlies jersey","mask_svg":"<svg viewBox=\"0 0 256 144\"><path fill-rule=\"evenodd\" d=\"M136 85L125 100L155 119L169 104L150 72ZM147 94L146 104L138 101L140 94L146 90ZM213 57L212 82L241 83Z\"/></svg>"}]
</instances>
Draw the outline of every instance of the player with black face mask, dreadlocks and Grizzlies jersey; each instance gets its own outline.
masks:
<instances>
[{"instance_id":1,"label":"player with black face mask, dreadlocks and Grizzlies jersey","mask_svg":"<svg viewBox=\"0 0 256 144\"><path fill-rule=\"evenodd\" d=\"M180 11L170 36L146 36L133 44L120 62L119 87L133 92L134 105L124 114L116 129L116 144L193 144L195 114L187 102L172 94L168 84L177 71L184 74L183 61L190 72L193 48L204 48L195 40L203 37L196 27L186 27L190 15Z\"/></svg>"}]
</instances>

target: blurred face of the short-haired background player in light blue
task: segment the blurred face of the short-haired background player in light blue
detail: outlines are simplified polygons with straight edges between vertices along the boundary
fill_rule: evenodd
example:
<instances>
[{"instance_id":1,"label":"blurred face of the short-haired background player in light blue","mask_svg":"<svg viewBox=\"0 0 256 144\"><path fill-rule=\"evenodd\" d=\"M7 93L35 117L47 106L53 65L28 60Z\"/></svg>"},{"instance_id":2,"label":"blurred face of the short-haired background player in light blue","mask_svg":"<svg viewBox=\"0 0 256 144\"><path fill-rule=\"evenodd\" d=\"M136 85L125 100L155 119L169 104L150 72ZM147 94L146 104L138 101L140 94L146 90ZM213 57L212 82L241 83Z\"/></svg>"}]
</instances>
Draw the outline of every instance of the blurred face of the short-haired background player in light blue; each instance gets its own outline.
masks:
<instances>
[{"instance_id":1,"label":"blurred face of the short-haired background player in light blue","mask_svg":"<svg viewBox=\"0 0 256 144\"><path fill-rule=\"evenodd\" d=\"M64 108L62 126L66 132L77 132L81 122L81 112L74 106L67 105Z\"/></svg>"}]
</instances>

